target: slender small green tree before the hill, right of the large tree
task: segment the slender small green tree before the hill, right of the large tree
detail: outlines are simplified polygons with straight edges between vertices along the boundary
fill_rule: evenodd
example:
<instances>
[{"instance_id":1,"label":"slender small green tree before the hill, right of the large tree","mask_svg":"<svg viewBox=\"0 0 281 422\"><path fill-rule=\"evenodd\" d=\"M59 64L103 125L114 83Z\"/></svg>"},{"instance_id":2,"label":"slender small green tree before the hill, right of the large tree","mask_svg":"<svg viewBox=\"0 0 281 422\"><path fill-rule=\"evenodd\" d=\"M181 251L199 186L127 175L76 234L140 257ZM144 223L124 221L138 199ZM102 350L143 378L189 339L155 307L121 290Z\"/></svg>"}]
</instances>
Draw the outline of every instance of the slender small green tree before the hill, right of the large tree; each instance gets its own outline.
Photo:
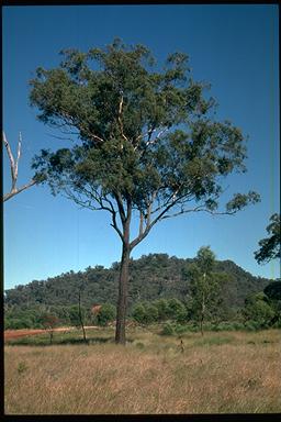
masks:
<instances>
[{"instance_id":1,"label":"slender small green tree before the hill, right of the large tree","mask_svg":"<svg viewBox=\"0 0 281 422\"><path fill-rule=\"evenodd\" d=\"M210 246L202 246L196 255L195 263L189 265L186 276L190 280L190 311L192 318L199 321L201 334L206 315L220 301L222 282L226 276L214 273L215 255Z\"/></svg>"}]
</instances>

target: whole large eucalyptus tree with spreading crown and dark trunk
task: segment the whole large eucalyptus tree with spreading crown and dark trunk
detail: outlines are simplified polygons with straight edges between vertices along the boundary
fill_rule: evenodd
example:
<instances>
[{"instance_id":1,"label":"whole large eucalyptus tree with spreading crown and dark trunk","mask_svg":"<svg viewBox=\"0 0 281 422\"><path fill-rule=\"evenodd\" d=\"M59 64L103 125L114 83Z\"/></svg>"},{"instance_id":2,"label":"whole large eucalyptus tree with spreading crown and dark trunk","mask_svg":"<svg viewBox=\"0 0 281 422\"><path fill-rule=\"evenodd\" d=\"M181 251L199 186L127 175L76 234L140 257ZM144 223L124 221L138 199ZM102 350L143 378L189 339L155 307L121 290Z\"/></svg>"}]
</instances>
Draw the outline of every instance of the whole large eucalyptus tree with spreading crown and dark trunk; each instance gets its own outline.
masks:
<instances>
[{"instance_id":1,"label":"whole large eucalyptus tree with spreading crown and dark trunk","mask_svg":"<svg viewBox=\"0 0 281 422\"><path fill-rule=\"evenodd\" d=\"M156 71L145 46L120 40L61 53L58 68L37 68L30 99L40 121L77 142L43 149L33 168L53 195L111 215L122 242L115 341L125 344L130 254L153 226L190 212L233 214L259 196L237 193L218 209L222 179L246 171L244 136L214 121L215 101L192 79L186 54L169 55Z\"/></svg>"}]
</instances>

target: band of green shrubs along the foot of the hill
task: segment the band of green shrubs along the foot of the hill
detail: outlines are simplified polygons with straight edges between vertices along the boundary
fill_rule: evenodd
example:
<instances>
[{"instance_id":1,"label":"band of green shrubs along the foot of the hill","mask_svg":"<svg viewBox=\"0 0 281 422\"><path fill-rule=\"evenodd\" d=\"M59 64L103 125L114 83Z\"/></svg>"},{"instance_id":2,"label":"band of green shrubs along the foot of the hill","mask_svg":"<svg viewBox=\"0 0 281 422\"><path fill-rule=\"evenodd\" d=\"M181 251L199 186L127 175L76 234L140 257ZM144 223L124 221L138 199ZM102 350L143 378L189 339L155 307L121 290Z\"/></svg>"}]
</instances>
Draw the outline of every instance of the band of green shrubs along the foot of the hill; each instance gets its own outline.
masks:
<instances>
[{"instance_id":1,"label":"band of green shrubs along the foot of the hill","mask_svg":"<svg viewBox=\"0 0 281 422\"><path fill-rule=\"evenodd\" d=\"M80 312L83 325L105 326L114 322L116 308L111 303L102 303L99 312L93 314L89 308L81 306ZM200 329L200 318L192 302L190 300L182 302L176 298L135 303L128 316L128 323L131 322L143 326L164 323L164 334ZM5 330L46 329L59 325L81 327L79 307L76 304L11 307L4 315ZM254 331L269 327L281 327L281 301L272 300L265 292L259 292L250 295L245 300L244 307L236 312L229 312L223 307L211 308L205 315L203 330Z\"/></svg>"}]
</instances>

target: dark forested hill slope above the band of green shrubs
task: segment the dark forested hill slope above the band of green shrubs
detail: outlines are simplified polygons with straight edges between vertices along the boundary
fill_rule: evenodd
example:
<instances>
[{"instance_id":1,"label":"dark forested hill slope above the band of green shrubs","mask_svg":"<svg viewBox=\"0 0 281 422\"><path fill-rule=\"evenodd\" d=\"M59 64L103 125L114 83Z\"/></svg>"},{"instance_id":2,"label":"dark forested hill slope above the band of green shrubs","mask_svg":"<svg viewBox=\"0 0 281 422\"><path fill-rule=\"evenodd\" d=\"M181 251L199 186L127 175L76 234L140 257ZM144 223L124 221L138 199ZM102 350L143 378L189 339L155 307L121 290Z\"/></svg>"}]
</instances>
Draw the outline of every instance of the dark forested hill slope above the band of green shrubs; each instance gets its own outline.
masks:
<instances>
[{"instance_id":1,"label":"dark forested hill slope above the band of green shrubs","mask_svg":"<svg viewBox=\"0 0 281 422\"><path fill-rule=\"evenodd\" d=\"M131 280L128 303L155 300L158 298L178 298L184 300L189 293L189 280L184 268L192 259L179 259L167 254L149 254L131 260ZM244 306L245 298L261 291L271 280L254 277L232 260L217 262L216 271L224 271L232 277L223 288L225 303L229 308ZM116 303L119 264L110 269L102 266L88 267L85 271L72 270L47 280L34 280L25 286L5 290L5 304L15 306L69 306L78 301L79 286L83 286L82 302Z\"/></svg>"}]
</instances>

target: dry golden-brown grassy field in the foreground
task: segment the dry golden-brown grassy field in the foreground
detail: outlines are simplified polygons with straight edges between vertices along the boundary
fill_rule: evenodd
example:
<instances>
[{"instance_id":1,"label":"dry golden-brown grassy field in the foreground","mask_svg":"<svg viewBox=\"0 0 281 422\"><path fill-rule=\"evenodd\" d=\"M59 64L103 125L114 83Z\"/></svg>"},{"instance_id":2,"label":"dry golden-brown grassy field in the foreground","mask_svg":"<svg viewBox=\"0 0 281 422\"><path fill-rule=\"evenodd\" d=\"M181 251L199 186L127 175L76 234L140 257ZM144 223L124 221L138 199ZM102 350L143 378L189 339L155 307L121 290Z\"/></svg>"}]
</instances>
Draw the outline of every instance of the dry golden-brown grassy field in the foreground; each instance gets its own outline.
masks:
<instances>
[{"instance_id":1,"label":"dry golden-brown grassy field in the foreground","mask_svg":"<svg viewBox=\"0 0 281 422\"><path fill-rule=\"evenodd\" d=\"M56 333L10 341L4 358L5 414L281 412L281 332L128 331Z\"/></svg>"}]
</instances>

